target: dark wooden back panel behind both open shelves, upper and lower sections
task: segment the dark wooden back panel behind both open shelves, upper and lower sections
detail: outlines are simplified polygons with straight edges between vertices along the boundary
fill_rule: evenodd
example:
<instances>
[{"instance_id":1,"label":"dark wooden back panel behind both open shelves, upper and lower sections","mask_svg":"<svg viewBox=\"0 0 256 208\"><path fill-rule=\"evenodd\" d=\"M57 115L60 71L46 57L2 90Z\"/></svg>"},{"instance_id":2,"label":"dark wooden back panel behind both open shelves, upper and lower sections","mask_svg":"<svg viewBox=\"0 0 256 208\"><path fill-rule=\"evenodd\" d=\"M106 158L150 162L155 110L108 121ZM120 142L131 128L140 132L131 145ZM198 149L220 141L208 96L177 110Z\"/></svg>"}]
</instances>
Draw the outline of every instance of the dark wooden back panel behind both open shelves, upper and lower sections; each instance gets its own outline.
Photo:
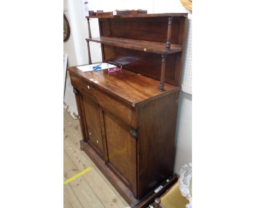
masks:
<instances>
[{"instance_id":1,"label":"dark wooden back panel behind both open shelves, upper and lower sections","mask_svg":"<svg viewBox=\"0 0 256 208\"><path fill-rule=\"evenodd\" d=\"M123 17L98 19L100 36L135 39L166 43L168 16ZM165 82L175 86L181 83L181 68L187 33L187 17L173 16L171 26L171 44L178 44L182 52L166 55ZM130 48L101 44L104 62L123 65L124 69L160 80L161 54L136 51Z\"/></svg>"}]
</instances>

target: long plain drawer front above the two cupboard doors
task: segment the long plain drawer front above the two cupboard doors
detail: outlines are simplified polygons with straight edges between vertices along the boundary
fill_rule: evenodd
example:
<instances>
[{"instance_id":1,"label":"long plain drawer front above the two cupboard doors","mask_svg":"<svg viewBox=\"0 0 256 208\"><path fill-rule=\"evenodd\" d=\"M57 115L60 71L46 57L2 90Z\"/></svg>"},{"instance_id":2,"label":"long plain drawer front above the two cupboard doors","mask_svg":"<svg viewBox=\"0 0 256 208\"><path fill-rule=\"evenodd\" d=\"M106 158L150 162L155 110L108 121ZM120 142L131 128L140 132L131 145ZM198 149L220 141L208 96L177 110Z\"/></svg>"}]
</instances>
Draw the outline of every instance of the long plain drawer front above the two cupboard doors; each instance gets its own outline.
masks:
<instances>
[{"instance_id":1,"label":"long plain drawer front above the two cupboard doors","mask_svg":"<svg viewBox=\"0 0 256 208\"><path fill-rule=\"evenodd\" d=\"M132 106L128 106L126 103L114 99L111 95L103 93L93 84L84 81L82 78L76 75L71 75L71 83L74 88L79 90L88 99L97 102L109 112L117 115L126 124L130 125L134 129L137 129L135 109Z\"/></svg>"}]
</instances>

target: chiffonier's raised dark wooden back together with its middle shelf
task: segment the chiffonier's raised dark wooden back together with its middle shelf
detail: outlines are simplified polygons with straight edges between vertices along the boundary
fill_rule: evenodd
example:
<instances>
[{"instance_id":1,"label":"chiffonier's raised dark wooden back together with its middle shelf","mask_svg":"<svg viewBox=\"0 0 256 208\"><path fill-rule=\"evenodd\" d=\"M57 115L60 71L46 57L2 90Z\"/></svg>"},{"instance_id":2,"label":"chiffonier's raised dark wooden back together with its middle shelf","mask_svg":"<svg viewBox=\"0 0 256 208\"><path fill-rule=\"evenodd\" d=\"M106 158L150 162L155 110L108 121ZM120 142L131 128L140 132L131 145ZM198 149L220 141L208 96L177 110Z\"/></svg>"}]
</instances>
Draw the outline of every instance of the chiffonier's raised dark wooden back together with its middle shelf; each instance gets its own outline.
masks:
<instances>
[{"instance_id":1,"label":"chiffonier's raised dark wooden back together with its middle shelf","mask_svg":"<svg viewBox=\"0 0 256 208\"><path fill-rule=\"evenodd\" d=\"M101 42L103 62L123 65L159 81L162 69L165 77L161 81L180 85L187 17L154 14L148 18L103 18L98 23L100 38L87 40ZM161 67L161 54L167 54L165 67Z\"/></svg>"}]
</instances>

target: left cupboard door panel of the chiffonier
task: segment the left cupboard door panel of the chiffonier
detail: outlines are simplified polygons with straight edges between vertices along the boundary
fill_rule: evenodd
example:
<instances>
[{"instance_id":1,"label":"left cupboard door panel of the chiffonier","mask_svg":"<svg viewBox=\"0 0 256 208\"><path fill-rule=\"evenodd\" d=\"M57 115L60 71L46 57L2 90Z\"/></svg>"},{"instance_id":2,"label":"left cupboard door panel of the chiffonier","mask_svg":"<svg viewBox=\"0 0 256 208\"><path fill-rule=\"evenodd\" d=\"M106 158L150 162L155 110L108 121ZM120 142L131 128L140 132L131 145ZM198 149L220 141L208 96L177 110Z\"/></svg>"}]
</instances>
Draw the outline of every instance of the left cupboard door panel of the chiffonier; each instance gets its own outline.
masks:
<instances>
[{"instance_id":1,"label":"left cupboard door panel of the chiffonier","mask_svg":"<svg viewBox=\"0 0 256 208\"><path fill-rule=\"evenodd\" d=\"M103 158L103 142L101 137L100 114L98 104L83 96L84 117L86 121L88 143Z\"/></svg>"}]
</instances>

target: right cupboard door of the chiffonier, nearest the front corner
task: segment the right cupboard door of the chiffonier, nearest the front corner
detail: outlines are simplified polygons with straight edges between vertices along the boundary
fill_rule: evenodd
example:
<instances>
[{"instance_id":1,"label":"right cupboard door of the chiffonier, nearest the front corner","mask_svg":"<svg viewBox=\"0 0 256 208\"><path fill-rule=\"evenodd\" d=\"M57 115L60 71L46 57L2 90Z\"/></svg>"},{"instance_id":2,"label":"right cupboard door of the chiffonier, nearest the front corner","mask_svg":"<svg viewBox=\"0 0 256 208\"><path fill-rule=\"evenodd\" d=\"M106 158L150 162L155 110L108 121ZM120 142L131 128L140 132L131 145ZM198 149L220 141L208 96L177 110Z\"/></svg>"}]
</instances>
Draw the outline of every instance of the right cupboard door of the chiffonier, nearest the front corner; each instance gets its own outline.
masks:
<instances>
[{"instance_id":1,"label":"right cupboard door of the chiffonier, nearest the front corner","mask_svg":"<svg viewBox=\"0 0 256 208\"><path fill-rule=\"evenodd\" d=\"M136 196L136 139L131 127L114 114L103 111L107 165Z\"/></svg>"}]
</instances>

